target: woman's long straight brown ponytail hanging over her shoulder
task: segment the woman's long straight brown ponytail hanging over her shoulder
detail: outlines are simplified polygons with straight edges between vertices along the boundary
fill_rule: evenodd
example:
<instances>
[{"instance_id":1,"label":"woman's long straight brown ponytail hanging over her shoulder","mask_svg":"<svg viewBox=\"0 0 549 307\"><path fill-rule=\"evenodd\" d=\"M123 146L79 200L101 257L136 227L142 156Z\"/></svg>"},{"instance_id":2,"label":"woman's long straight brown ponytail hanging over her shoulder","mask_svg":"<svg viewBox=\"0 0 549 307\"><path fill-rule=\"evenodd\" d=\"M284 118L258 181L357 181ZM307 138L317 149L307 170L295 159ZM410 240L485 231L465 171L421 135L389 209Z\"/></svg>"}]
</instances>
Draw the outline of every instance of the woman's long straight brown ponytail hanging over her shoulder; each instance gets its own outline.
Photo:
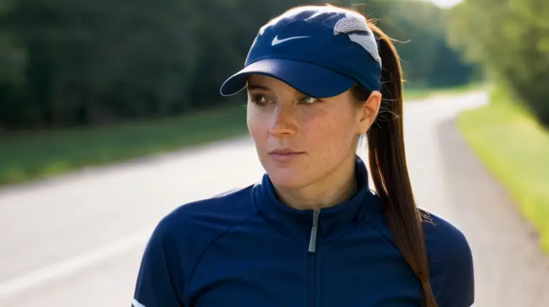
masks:
<instances>
[{"instance_id":1,"label":"woman's long straight brown ponytail hanging over her shoulder","mask_svg":"<svg viewBox=\"0 0 549 307\"><path fill-rule=\"evenodd\" d=\"M421 282L425 307L437 307L430 286L423 235L423 221L429 217L415 204L406 165L400 59L390 38L371 22L369 26L379 38L379 56L383 64L382 105L376 122L367 133L372 179L395 243ZM364 92L358 86L351 88L359 101L368 99L369 93Z\"/></svg>"}]
</instances>

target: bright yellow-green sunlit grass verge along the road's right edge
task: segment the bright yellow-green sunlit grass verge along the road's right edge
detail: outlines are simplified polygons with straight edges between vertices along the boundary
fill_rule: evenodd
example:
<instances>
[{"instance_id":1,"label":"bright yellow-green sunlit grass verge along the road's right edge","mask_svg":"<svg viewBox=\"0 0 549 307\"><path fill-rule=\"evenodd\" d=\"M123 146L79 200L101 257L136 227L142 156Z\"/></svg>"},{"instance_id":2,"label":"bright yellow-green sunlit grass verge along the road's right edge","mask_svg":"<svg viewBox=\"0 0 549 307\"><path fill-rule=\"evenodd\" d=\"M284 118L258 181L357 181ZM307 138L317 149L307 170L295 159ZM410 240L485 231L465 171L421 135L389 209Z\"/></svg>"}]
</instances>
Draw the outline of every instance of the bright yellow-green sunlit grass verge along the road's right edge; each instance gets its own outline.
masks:
<instances>
[{"instance_id":1,"label":"bright yellow-green sunlit grass verge along the road's right edge","mask_svg":"<svg viewBox=\"0 0 549 307\"><path fill-rule=\"evenodd\" d=\"M488 106L458 116L458 127L549 253L549 131L509 97L494 90Z\"/></svg>"}]
</instances>

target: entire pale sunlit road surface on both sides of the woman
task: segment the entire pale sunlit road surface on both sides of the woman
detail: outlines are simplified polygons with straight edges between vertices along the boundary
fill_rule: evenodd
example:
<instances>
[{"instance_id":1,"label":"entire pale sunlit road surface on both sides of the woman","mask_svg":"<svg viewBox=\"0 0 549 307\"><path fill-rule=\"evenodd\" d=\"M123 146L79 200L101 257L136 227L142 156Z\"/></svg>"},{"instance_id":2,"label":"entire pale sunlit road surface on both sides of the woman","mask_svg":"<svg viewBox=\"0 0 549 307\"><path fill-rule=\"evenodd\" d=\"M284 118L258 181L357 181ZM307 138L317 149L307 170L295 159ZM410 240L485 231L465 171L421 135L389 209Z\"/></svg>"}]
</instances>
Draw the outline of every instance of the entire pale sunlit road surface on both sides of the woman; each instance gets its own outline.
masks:
<instances>
[{"instance_id":1,"label":"entire pale sunlit road surface on both sides of the woman","mask_svg":"<svg viewBox=\"0 0 549 307\"><path fill-rule=\"evenodd\" d=\"M406 105L412 185L421 207L469 238L476 307L549 306L548 259L452 124L460 110L486 101L470 93ZM159 219L262 173L250 140L238 138L3 188L0 306L130 306L141 253Z\"/></svg>"}]
</instances>

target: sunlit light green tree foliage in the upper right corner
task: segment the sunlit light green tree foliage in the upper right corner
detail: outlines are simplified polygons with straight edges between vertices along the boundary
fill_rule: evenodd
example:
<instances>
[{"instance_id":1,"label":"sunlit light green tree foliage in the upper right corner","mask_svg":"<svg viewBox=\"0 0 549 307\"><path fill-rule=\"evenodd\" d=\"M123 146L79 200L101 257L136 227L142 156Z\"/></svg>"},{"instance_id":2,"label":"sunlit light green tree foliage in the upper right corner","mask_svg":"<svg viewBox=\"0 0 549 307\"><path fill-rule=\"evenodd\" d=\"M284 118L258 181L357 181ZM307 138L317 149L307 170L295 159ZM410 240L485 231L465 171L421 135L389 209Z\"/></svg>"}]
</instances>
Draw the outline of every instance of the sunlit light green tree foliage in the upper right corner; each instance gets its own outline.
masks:
<instances>
[{"instance_id":1,"label":"sunlit light green tree foliage in the upper right corner","mask_svg":"<svg viewBox=\"0 0 549 307\"><path fill-rule=\"evenodd\" d=\"M449 42L486 67L549 126L549 2L466 0L452 12Z\"/></svg>"}]
</instances>

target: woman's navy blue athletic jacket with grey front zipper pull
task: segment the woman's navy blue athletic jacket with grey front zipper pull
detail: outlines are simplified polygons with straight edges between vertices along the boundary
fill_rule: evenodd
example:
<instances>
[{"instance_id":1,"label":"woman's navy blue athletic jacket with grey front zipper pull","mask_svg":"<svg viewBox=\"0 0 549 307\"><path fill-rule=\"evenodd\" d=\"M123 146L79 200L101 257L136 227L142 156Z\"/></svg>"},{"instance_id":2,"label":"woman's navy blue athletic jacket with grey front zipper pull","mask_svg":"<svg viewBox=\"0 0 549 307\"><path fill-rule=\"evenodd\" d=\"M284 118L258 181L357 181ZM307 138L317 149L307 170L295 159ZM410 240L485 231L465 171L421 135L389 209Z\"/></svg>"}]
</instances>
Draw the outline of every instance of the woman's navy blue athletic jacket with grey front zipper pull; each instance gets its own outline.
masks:
<instances>
[{"instance_id":1,"label":"woman's navy blue athletic jacket with grey front zipper pull","mask_svg":"<svg viewBox=\"0 0 549 307\"><path fill-rule=\"evenodd\" d=\"M180 206L148 242L133 306L422 306L419 280L393 243L360 159L356 169L355 197L320 212L282 204L268 175ZM436 300L439 307L469 307L467 240L432 218L424 227Z\"/></svg>"}]
</instances>

